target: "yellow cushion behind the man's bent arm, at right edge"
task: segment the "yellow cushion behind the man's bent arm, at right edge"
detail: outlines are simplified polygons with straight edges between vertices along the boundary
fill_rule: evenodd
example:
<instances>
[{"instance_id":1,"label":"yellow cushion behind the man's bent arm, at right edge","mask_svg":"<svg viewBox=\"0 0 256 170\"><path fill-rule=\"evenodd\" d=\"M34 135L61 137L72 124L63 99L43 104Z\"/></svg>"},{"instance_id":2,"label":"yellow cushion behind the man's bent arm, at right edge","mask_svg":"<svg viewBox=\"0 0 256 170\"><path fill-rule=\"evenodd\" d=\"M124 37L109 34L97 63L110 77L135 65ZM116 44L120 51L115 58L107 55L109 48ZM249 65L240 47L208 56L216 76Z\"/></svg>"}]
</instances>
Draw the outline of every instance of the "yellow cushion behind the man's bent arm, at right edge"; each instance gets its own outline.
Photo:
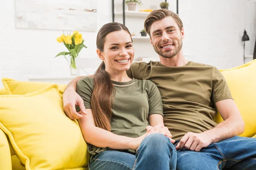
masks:
<instances>
[{"instance_id":1,"label":"yellow cushion behind the man's bent arm, at right edge","mask_svg":"<svg viewBox=\"0 0 256 170\"><path fill-rule=\"evenodd\" d=\"M227 80L231 94L244 119L245 130L240 136L251 137L256 134L256 59L244 65L221 70ZM218 114L215 121L223 121Z\"/></svg>"}]
</instances>

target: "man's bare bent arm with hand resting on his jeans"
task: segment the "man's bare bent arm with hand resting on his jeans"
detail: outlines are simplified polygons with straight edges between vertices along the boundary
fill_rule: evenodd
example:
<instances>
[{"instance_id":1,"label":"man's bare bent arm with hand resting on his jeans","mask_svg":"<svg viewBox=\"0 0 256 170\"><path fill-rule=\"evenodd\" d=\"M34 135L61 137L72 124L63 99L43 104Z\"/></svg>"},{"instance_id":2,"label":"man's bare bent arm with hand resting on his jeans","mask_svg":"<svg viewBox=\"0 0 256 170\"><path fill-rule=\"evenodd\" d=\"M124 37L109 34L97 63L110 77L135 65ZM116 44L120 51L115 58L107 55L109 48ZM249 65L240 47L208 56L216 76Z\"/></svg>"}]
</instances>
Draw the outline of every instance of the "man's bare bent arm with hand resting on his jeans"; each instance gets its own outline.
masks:
<instances>
[{"instance_id":1,"label":"man's bare bent arm with hand resting on his jeans","mask_svg":"<svg viewBox=\"0 0 256 170\"><path fill-rule=\"evenodd\" d=\"M186 133L177 144L176 149L200 151L214 142L229 139L244 132L244 121L233 99L224 99L215 103L223 122L211 130L202 133Z\"/></svg>"}]
</instances>

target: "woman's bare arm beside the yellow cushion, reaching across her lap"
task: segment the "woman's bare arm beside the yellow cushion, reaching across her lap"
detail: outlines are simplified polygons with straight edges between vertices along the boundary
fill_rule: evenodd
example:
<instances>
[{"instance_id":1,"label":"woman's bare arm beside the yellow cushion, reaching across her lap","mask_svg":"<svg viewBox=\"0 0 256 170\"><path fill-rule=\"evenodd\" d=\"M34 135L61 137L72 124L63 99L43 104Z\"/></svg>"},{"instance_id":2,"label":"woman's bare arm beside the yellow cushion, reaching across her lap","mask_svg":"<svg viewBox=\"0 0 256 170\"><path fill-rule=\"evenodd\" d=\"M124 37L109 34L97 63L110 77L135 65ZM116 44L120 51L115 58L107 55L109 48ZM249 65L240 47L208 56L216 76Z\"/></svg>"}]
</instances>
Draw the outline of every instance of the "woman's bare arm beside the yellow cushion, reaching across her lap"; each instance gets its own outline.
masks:
<instances>
[{"instance_id":1,"label":"woman's bare arm beside the yellow cushion, reaching across her lap","mask_svg":"<svg viewBox=\"0 0 256 170\"><path fill-rule=\"evenodd\" d=\"M116 135L102 128L96 127L91 109L86 109L87 114L78 119L84 140L96 147L110 147L112 149L133 149L136 150L145 138L147 133L138 138L129 138Z\"/></svg>"}]
</instances>

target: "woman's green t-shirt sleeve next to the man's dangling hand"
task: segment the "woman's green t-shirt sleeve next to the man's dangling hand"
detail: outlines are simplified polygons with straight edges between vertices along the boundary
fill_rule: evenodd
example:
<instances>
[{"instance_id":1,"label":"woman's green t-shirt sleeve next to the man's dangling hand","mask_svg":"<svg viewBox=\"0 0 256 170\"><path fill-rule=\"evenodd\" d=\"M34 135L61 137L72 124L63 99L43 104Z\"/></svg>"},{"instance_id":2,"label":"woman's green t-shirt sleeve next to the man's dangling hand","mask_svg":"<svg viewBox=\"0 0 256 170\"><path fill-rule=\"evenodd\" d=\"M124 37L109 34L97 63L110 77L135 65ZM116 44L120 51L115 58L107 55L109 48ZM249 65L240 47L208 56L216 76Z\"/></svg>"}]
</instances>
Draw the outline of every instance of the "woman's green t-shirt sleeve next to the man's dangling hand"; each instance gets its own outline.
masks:
<instances>
[{"instance_id":1,"label":"woman's green t-shirt sleeve next to the man's dangling hand","mask_svg":"<svg viewBox=\"0 0 256 170\"><path fill-rule=\"evenodd\" d=\"M76 85L76 93L79 94L79 96L81 96L81 98L84 100L84 107L91 109L91 99L93 94L93 78L84 77L80 79ZM80 111L79 106L76 106L76 111Z\"/></svg>"}]
</instances>

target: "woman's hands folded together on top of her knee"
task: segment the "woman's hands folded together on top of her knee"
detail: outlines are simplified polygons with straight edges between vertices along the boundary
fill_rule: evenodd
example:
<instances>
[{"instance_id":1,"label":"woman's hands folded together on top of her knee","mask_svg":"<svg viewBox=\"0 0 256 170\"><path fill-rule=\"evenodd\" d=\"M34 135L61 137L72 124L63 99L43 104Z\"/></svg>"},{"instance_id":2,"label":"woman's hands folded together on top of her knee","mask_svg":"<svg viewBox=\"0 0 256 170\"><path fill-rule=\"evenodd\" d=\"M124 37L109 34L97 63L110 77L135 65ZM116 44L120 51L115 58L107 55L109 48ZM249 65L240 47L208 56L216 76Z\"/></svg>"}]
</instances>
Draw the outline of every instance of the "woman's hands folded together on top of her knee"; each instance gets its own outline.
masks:
<instances>
[{"instance_id":1,"label":"woman's hands folded together on top of her knee","mask_svg":"<svg viewBox=\"0 0 256 170\"><path fill-rule=\"evenodd\" d=\"M172 139L172 134L171 132L169 131L169 129L167 127L165 127L163 125L163 123L160 123L158 125L156 125L155 127L152 127L152 126L147 126L146 127L147 131L148 131L148 134L152 134L152 133L162 133L163 135L169 137L170 141L172 143L175 142L175 140Z\"/></svg>"}]
</instances>

